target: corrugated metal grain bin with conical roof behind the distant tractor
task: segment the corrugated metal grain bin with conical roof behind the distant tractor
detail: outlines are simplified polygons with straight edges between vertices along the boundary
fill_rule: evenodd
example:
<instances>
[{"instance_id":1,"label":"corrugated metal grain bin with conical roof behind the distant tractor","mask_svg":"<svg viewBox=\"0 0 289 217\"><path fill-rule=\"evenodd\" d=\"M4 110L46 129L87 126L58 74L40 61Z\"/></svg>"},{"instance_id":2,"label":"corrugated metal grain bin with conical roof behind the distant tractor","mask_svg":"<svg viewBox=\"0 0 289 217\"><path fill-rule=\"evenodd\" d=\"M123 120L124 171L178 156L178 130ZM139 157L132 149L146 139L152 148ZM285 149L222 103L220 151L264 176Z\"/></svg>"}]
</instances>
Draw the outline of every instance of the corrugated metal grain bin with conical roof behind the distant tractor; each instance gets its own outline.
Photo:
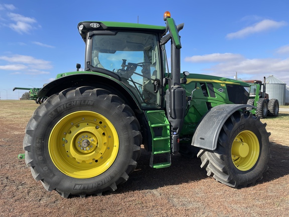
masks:
<instances>
[{"instance_id":1,"label":"corrugated metal grain bin with conical roof behind the distant tractor","mask_svg":"<svg viewBox=\"0 0 289 217\"><path fill-rule=\"evenodd\" d=\"M266 92L269 94L269 99L276 98L279 105L285 105L286 84L283 81L270 75L266 78Z\"/></svg>"}]
</instances>

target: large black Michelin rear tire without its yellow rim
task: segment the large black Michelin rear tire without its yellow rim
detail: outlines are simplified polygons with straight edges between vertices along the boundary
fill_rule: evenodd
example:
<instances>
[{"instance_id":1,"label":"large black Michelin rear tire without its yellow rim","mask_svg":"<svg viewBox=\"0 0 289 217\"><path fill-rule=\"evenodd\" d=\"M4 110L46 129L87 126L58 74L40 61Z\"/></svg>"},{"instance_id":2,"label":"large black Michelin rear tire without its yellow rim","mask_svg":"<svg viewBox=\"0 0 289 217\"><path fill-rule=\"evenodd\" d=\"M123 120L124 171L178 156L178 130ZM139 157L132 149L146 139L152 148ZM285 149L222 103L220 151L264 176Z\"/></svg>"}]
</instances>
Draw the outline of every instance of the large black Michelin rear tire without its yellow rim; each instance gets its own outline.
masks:
<instances>
[{"instance_id":1,"label":"large black Michelin rear tire without its yellow rim","mask_svg":"<svg viewBox=\"0 0 289 217\"><path fill-rule=\"evenodd\" d=\"M85 103L87 101L90 103ZM89 178L75 178L62 173L53 163L48 149L53 127L63 117L79 111L91 111L108 119L115 128L119 142L112 165L101 174ZM87 194L101 195L107 190L114 191L118 184L128 179L128 174L137 165L141 140L139 123L120 97L105 89L83 86L54 94L37 108L26 127L23 147L26 164L46 190L56 190L65 198L69 195L85 197Z\"/></svg>"}]
</instances>

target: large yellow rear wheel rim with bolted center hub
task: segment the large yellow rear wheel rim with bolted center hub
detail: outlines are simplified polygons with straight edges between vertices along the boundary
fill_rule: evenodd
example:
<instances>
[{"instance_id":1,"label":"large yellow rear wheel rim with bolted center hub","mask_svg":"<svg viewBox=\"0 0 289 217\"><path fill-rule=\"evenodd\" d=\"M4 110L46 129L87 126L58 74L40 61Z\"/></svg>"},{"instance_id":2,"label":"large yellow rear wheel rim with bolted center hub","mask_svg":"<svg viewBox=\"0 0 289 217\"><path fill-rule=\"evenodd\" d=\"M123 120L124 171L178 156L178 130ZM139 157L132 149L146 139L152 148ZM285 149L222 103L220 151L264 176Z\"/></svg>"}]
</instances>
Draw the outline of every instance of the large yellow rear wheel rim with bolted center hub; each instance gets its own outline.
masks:
<instances>
[{"instance_id":1,"label":"large yellow rear wheel rim with bolted center hub","mask_svg":"<svg viewBox=\"0 0 289 217\"><path fill-rule=\"evenodd\" d=\"M52 129L48 149L54 165L74 178L105 172L116 159L117 132L104 116L79 111L62 118Z\"/></svg>"}]
</instances>

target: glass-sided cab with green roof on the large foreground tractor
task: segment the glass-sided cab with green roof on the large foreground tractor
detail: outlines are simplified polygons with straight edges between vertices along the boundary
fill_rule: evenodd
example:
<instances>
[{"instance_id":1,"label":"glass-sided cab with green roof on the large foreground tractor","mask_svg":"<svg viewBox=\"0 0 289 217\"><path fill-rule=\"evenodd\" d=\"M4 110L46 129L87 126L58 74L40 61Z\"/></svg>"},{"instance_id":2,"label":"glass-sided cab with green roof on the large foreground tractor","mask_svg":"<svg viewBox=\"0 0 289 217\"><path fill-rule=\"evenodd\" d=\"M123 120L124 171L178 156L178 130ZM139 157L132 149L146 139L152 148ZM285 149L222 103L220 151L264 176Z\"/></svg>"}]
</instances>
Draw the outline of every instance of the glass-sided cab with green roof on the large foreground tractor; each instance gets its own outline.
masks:
<instances>
[{"instance_id":1,"label":"glass-sided cab with green roof on the large foreground tractor","mask_svg":"<svg viewBox=\"0 0 289 217\"><path fill-rule=\"evenodd\" d=\"M165 27L116 22L81 22L85 70L120 80L141 107L161 106L163 64L160 37Z\"/></svg>"}]
</instances>

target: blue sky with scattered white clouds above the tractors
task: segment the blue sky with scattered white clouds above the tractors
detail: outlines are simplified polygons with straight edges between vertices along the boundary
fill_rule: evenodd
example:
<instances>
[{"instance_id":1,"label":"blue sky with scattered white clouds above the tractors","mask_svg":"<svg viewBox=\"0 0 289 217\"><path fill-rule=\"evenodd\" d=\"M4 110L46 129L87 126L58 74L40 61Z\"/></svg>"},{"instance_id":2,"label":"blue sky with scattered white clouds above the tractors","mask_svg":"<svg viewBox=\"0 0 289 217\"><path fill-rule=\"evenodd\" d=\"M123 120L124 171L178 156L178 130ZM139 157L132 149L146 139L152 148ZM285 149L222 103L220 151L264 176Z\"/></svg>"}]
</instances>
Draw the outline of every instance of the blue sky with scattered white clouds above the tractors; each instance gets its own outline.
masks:
<instances>
[{"instance_id":1,"label":"blue sky with scattered white clouds above the tractors","mask_svg":"<svg viewBox=\"0 0 289 217\"><path fill-rule=\"evenodd\" d=\"M85 5L87 4L87 5ZM58 73L84 66L81 21L164 26L170 11L180 32L181 70L289 85L289 1L13 1L0 0L0 96L18 99Z\"/></svg>"}]
</instances>

